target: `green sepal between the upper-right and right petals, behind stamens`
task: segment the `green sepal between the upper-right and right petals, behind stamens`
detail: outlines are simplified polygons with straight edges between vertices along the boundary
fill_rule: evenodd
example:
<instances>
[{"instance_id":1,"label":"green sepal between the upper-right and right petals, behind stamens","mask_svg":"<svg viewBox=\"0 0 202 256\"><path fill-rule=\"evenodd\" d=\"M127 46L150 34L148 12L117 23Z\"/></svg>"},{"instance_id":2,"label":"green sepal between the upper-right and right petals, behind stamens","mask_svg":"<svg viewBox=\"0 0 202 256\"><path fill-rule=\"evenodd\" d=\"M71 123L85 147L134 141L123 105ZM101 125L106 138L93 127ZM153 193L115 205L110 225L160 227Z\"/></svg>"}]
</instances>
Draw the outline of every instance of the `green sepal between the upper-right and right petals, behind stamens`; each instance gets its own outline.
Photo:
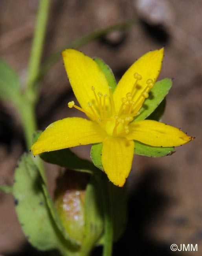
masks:
<instances>
[{"instance_id":1,"label":"green sepal between the upper-right and right petals, behind stamens","mask_svg":"<svg viewBox=\"0 0 202 256\"><path fill-rule=\"evenodd\" d=\"M165 96L168 94L172 86L171 79L165 78L156 82L149 93L149 97L145 100L140 109L140 115L134 118L134 121L144 120L159 106Z\"/></svg>"}]
</instances>

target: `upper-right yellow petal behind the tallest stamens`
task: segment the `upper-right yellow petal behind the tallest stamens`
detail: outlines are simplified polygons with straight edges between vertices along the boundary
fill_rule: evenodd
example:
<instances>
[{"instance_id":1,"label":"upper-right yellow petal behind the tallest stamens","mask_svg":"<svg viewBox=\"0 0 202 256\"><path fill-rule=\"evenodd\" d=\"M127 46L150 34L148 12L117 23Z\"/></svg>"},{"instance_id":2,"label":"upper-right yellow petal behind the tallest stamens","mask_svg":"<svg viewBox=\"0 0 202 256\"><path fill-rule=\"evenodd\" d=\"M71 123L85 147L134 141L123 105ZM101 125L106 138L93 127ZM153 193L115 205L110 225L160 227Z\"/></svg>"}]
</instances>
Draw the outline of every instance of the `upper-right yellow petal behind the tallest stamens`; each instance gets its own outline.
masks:
<instances>
[{"instance_id":1,"label":"upper-right yellow petal behind the tallest stamens","mask_svg":"<svg viewBox=\"0 0 202 256\"><path fill-rule=\"evenodd\" d=\"M163 60L163 48L160 50L154 50L141 56L130 68L125 72L119 81L114 91L114 101L116 109L118 110L121 105L121 98L125 97L127 93L132 91L135 83L134 73L138 73L142 76L142 79L138 81L138 88L133 100L140 96L141 92L147 87L147 80L153 79L155 82L161 70Z\"/></svg>"}]
</instances>

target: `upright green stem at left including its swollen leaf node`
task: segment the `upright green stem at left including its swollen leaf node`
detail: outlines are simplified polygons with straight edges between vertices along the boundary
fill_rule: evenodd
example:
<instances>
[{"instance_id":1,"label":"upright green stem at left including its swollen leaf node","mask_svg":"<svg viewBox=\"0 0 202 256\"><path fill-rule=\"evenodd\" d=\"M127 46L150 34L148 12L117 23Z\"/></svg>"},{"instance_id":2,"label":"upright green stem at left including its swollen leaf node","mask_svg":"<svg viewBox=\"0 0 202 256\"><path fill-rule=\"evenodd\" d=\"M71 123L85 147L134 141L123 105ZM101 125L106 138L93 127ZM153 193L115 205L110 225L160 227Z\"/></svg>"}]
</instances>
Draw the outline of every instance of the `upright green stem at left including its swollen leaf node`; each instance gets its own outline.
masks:
<instances>
[{"instance_id":1,"label":"upright green stem at left including its swollen leaf node","mask_svg":"<svg viewBox=\"0 0 202 256\"><path fill-rule=\"evenodd\" d=\"M42 49L48 20L48 11L50 9L50 0L40 0L37 13L35 32L31 47L31 54L28 65L28 80L22 100L18 104L18 111L22 119L22 126L25 134L27 148L32 145L32 135L37 129L35 104L37 100L37 92L33 90L36 77L39 74Z\"/></svg>"}]
</instances>

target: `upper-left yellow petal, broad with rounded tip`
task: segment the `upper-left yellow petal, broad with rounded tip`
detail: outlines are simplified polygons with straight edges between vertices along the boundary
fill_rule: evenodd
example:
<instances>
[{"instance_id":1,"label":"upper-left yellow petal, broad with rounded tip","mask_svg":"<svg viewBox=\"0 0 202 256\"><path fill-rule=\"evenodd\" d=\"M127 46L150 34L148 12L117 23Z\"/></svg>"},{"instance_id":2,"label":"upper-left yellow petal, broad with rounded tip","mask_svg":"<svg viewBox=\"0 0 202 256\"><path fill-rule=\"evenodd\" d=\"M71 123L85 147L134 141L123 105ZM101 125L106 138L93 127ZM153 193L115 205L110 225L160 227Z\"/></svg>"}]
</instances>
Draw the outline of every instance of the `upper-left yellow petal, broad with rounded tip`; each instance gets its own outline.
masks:
<instances>
[{"instance_id":1,"label":"upper-left yellow petal, broad with rounded tip","mask_svg":"<svg viewBox=\"0 0 202 256\"><path fill-rule=\"evenodd\" d=\"M108 94L109 85L105 75L92 58L79 51L66 49L62 52L62 57L70 84L81 108L92 113L88 107L88 102L91 102L97 113L97 103L91 88L95 87L96 94L98 92L103 95Z\"/></svg>"}]
</instances>

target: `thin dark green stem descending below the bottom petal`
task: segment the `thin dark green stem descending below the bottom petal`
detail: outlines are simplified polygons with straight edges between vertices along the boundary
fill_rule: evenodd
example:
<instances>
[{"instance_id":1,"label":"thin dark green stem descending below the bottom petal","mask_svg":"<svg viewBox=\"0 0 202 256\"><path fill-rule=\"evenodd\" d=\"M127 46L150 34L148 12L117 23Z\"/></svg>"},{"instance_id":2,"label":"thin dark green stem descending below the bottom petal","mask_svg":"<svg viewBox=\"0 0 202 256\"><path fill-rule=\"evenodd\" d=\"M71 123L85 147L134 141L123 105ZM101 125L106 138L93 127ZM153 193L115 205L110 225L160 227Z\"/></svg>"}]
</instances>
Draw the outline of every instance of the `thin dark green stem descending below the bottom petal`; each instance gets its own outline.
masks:
<instances>
[{"instance_id":1,"label":"thin dark green stem descending below the bottom petal","mask_svg":"<svg viewBox=\"0 0 202 256\"><path fill-rule=\"evenodd\" d=\"M103 247L103 256L112 255L113 246L113 217L109 182L104 174L103 180L103 199L104 199L104 220L105 220L105 242Z\"/></svg>"}]
</instances>

